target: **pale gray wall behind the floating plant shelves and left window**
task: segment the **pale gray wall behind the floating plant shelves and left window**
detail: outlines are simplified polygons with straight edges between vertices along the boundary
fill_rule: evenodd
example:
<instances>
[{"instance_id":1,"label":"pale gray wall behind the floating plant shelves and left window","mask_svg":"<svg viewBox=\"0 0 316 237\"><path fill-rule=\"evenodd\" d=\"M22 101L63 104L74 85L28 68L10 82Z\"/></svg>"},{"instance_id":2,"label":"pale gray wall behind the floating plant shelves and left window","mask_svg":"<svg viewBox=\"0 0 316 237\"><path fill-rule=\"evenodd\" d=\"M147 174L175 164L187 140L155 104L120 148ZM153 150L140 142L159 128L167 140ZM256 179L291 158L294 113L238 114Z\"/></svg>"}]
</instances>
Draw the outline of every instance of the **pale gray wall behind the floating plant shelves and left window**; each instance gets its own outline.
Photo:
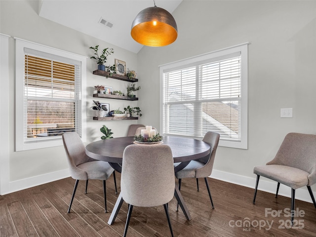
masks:
<instances>
[{"instance_id":1,"label":"pale gray wall behind the floating plant shelves and left window","mask_svg":"<svg viewBox=\"0 0 316 237\"><path fill-rule=\"evenodd\" d=\"M126 62L126 66L138 71L137 55L130 51L109 44L105 41L97 40L90 36L84 35L77 31L71 30L62 25L44 19L38 15L38 1L0 1L0 33L9 35L9 68L8 78L2 78L1 81L8 81L9 92L7 93L7 101L9 110L3 112L1 107L1 117L8 114L8 154L1 157L1 166L8 167L8 172L1 172L1 190L0 194L5 194L28 188L30 186L39 185L60 179L69 175L66 154L63 146L36 149L25 152L14 152L14 83L15 83L15 46L13 37L29 40L44 44L47 46L59 48L76 54L87 56L87 142L99 140L103 135L100 127L103 124L110 127L114 132L114 137L125 136L129 124L137 123L137 120L122 121L94 121L94 111L90 109L92 106L92 94L94 85L110 85L114 90L122 90L126 93L128 82L106 79L105 77L92 75L97 69L97 65L93 59L89 59L93 55L90 46L99 44L99 48L112 47L115 53L108 57L106 64L114 64L115 58ZM101 26L102 27L102 26ZM1 63L2 64L2 63ZM2 88L1 83L1 88ZM3 92L3 91L2 91ZM1 97L2 99L2 97ZM136 106L137 102L123 100L102 100L104 103L110 103L110 109L114 110L118 107L123 109L127 105ZM4 120L4 119L2 119ZM1 126L3 127L3 126ZM2 130L0 131L3 132ZM7 163L6 163L7 162Z\"/></svg>"}]
</instances>

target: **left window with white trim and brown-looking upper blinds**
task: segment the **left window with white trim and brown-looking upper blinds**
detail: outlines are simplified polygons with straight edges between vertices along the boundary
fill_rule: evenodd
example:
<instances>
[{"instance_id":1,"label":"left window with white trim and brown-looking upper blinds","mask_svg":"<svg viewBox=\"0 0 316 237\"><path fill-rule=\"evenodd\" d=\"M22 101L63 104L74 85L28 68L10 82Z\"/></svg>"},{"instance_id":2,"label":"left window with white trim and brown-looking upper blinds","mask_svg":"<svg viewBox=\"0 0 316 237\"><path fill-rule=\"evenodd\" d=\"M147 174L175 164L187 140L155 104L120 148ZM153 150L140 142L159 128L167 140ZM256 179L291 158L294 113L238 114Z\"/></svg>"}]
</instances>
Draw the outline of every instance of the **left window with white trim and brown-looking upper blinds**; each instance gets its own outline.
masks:
<instances>
[{"instance_id":1,"label":"left window with white trim and brown-looking upper blinds","mask_svg":"<svg viewBox=\"0 0 316 237\"><path fill-rule=\"evenodd\" d=\"M16 47L16 151L62 145L65 132L84 138L85 58L23 40Z\"/></svg>"}]
</instances>

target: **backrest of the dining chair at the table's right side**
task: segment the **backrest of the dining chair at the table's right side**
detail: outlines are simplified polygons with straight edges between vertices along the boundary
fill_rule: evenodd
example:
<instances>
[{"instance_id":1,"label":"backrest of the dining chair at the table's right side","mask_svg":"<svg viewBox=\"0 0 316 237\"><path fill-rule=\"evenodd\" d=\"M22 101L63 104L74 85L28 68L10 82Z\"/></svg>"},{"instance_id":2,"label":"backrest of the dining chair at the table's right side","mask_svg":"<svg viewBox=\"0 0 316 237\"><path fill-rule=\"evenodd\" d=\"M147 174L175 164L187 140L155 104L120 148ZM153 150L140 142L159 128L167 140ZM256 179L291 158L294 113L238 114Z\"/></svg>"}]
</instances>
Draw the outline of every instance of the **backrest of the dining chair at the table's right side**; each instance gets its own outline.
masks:
<instances>
[{"instance_id":1,"label":"backrest of the dining chair at the table's right side","mask_svg":"<svg viewBox=\"0 0 316 237\"><path fill-rule=\"evenodd\" d=\"M216 132L205 133L202 141L210 145L210 154L204 158L198 159L198 161L205 163L205 165L203 167L197 168L196 170L197 178L204 178L211 175L219 138L220 138L219 133L216 133Z\"/></svg>"}]
</instances>

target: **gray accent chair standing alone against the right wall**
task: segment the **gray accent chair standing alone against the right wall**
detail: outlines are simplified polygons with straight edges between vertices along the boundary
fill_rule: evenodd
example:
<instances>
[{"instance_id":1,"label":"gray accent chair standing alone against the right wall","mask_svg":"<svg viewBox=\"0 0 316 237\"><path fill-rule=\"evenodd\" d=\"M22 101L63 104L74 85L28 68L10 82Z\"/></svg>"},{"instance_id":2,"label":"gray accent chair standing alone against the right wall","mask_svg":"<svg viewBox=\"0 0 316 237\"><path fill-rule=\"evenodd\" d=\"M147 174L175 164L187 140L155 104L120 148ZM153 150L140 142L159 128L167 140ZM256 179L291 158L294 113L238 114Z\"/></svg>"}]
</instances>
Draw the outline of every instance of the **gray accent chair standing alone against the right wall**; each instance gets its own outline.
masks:
<instances>
[{"instance_id":1,"label":"gray accent chair standing alone against the right wall","mask_svg":"<svg viewBox=\"0 0 316 237\"><path fill-rule=\"evenodd\" d=\"M293 225L296 189L307 186L316 208L311 189L311 186L316 183L316 135L288 133L276 157L266 165L255 166L253 172L257 174L253 204L255 204L260 176L277 182L276 197L280 183L292 189L291 221Z\"/></svg>"}]
</instances>

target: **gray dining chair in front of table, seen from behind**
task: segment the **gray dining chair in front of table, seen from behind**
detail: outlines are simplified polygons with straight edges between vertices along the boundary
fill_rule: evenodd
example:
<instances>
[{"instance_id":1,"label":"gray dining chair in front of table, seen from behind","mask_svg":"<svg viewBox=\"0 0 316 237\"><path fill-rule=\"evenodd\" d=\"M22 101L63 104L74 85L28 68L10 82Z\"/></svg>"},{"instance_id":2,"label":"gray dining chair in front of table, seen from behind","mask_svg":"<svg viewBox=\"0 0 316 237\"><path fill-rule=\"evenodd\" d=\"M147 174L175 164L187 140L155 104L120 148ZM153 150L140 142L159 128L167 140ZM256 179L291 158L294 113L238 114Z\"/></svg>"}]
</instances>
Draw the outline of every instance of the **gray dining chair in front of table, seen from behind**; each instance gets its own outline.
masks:
<instances>
[{"instance_id":1,"label":"gray dining chair in front of table, seen from behind","mask_svg":"<svg viewBox=\"0 0 316 237\"><path fill-rule=\"evenodd\" d=\"M167 145L129 145L122 160L121 195L128 203L124 237L126 236L133 206L163 205L171 236L172 226L168 202L174 196L173 157Z\"/></svg>"}]
</instances>

